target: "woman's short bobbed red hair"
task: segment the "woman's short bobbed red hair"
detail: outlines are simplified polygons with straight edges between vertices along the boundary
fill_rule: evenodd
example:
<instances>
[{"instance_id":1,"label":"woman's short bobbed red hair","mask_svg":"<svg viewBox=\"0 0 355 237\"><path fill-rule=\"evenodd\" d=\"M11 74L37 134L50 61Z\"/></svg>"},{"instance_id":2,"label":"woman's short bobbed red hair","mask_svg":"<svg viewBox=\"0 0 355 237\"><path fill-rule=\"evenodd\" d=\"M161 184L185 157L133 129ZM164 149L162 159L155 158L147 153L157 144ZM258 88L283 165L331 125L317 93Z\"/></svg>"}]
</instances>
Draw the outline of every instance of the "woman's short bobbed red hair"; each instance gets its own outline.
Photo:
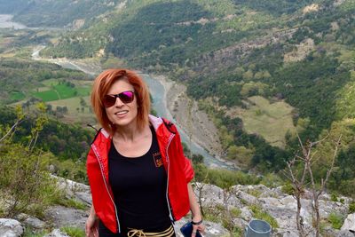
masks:
<instances>
[{"instance_id":1,"label":"woman's short bobbed red hair","mask_svg":"<svg viewBox=\"0 0 355 237\"><path fill-rule=\"evenodd\" d=\"M138 106L138 130L142 130L146 124L149 123L150 96L148 87L143 79L135 72L127 69L107 69L98 75L94 81L91 91L91 106L101 126L111 135L114 134L114 126L112 126L112 123L108 120L102 99L111 86L116 81L122 79L127 80L135 91Z\"/></svg>"}]
</instances>

